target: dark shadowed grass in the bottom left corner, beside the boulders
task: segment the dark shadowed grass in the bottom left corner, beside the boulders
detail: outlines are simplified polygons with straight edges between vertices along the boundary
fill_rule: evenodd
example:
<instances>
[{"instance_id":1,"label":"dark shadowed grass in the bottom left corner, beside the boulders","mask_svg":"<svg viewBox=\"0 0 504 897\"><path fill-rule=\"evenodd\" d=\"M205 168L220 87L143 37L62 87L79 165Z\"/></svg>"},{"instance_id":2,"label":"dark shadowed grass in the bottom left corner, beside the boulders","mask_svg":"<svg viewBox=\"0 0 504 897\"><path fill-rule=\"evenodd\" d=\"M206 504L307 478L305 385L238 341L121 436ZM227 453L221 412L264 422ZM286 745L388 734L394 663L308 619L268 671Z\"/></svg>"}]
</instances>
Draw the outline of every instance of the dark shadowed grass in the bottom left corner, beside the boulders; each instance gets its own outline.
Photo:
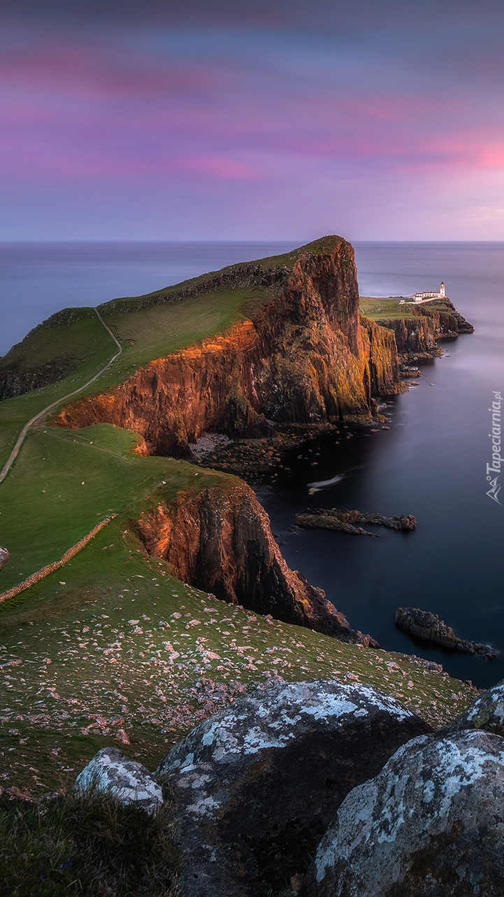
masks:
<instances>
[{"instance_id":1,"label":"dark shadowed grass in the bottom left corner, beside the boulders","mask_svg":"<svg viewBox=\"0 0 504 897\"><path fill-rule=\"evenodd\" d=\"M0 893L170 897L178 880L171 805L152 816L91 793L0 798Z\"/></svg>"}]
</instances>

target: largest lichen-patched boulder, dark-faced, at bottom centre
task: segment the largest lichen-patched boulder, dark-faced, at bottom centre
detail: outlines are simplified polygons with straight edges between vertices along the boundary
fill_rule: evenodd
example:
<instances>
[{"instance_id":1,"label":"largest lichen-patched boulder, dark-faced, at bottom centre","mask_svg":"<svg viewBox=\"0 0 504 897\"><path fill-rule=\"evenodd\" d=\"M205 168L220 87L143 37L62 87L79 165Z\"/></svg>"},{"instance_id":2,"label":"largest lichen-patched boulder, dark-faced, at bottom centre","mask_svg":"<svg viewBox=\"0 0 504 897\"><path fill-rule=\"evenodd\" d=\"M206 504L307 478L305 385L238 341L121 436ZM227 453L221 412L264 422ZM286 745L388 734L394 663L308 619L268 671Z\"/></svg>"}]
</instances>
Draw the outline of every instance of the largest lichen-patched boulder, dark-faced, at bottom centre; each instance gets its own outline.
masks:
<instances>
[{"instance_id":1,"label":"largest lichen-patched boulder, dark-faced, at bottom centre","mask_svg":"<svg viewBox=\"0 0 504 897\"><path fill-rule=\"evenodd\" d=\"M430 727L366 685L277 683L205 720L161 762L182 893L249 897L302 873L337 807Z\"/></svg>"}]
</instances>

